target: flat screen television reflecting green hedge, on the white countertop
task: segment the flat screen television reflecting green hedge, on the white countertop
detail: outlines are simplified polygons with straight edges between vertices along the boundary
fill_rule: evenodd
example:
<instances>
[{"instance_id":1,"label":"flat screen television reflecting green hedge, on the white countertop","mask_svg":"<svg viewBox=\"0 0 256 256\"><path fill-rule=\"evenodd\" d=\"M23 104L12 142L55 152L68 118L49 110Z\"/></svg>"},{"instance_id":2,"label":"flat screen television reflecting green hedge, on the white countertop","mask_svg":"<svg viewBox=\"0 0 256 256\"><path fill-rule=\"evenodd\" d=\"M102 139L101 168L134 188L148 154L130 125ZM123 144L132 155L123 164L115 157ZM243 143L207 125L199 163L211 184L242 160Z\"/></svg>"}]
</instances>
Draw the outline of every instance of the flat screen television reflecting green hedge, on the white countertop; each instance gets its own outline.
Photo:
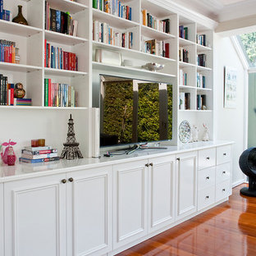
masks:
<instances>
[{"instance_id":1,"label":"flat screen television reflecting green hedge, on the white countertop","mask_svg":"<svg viewBox=\"0 0 256 256\"><path fill-rule=\"evenodd\" d=\"M172 138L172 85L100 75L100 145Z\"/></svg>"}]
</instances>

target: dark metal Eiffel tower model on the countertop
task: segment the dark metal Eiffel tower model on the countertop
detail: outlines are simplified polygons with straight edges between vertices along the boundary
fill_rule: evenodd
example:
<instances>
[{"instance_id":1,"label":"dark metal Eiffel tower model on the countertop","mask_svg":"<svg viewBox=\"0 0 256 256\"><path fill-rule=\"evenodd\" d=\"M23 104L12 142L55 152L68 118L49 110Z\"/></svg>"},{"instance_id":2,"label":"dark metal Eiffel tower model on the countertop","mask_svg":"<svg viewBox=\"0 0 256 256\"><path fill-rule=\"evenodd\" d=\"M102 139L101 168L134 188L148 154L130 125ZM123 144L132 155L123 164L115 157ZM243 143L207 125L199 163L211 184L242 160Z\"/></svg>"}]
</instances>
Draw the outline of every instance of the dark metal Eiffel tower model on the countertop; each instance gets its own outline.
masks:
<instances>
[{"instance_id":1,"label":"dark metal Eiffel tower model on the countertop","mask_svg":"<svg viewBox=\"0 0 256 256\"><path fill-rule=\"evenodd\" d=\"M75 140L74 121L71 118L68 121L68 130L66 143L63 143L64 149L60 158L66 158L67 160L73 160L75 158L83 158L82 153L79 149L79 143Z\"/></svg>"}]
</instances>

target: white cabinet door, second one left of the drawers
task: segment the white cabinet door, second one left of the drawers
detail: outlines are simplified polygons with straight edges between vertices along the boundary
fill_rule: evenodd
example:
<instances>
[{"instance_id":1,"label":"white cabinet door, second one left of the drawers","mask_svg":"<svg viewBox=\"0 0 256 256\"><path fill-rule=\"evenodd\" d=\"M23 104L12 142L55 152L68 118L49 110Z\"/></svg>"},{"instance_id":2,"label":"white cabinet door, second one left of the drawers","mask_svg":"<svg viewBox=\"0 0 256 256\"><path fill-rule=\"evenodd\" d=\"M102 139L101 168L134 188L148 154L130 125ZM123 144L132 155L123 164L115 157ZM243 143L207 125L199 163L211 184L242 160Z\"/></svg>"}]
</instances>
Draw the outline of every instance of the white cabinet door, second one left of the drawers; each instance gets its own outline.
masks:
<instances>
[{"instance_id":1,"label":"white cabinet door, second one left of the drawers","mask_svg":"<svg viewBox=\"0 0 256 256\"><path fill-rule=\"evenodd\" d=\"M149 232L174 222L175 156L149 159Z\"/></svg>"}]
</instances>

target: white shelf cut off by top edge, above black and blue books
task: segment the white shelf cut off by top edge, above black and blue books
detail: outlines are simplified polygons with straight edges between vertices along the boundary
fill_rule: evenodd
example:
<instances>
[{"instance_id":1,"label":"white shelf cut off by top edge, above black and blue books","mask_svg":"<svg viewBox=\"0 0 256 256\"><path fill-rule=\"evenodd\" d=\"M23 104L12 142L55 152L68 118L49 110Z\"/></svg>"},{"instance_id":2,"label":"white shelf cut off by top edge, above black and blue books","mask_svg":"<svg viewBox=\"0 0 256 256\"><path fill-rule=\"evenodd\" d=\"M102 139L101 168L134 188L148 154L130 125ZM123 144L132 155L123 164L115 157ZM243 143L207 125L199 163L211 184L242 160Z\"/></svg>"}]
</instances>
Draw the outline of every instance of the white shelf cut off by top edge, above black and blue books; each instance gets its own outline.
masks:
<instances>
[{"instance_id":1,"label":"white shelf cut off by top edge, above black and blue books","mask_svg":"<svg viewBox=\"0 0 256 256\"><path fill-rule=\"evenodd\" d=\"M80 2L72 2L70 0L48 0L50 6L58 7L62 11L69 11L71 14L75 14L80 11L85 11L89 6L81 4Z\"/></svg>"}]
</instances>

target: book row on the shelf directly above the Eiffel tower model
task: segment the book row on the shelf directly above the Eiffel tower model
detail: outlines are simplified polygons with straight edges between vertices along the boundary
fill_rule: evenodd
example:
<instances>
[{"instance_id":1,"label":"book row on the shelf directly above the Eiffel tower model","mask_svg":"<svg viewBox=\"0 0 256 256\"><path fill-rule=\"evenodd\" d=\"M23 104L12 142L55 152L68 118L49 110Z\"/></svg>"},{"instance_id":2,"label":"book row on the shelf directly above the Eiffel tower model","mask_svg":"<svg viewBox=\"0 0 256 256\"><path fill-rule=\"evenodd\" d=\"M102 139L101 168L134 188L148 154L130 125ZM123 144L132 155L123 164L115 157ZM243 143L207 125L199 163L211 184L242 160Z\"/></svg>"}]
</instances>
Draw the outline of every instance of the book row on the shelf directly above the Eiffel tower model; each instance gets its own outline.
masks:
<instances>
[{"instance_id":1,"label":"book row on the shelf directly above the Eiffel tower model","mask_svg":"<svg viewBox=\"0 0 256 256\"><path fill-rule=\"evenodd\" d=\"M77 107L77 92L74 86L52 83L44 79L44 107Z\"/></svg>"}]
</instances>

